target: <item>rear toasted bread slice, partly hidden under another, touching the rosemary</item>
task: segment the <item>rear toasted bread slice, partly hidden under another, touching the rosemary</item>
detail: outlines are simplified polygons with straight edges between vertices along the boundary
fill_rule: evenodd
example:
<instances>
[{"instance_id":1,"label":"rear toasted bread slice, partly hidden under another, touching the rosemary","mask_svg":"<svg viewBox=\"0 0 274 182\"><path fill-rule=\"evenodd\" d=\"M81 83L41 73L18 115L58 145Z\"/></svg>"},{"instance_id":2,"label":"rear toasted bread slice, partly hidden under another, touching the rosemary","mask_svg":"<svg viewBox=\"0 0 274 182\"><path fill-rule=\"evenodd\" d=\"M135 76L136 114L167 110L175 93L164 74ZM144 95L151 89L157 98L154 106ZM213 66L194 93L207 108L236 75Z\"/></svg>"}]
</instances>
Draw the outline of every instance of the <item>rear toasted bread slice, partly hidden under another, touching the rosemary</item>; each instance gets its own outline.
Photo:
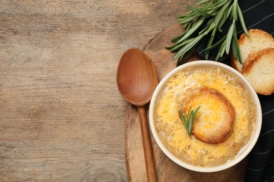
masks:
<instances>
[{"instance_id":1,"label":"rear toasted bread slice, partly hidden under another, touching the rosemary","mask_svg":"<svg viewBox=\"0 0 274 182\"><path fill-rule=\"evenodd\" d=\"M248 32L250 36L243 33L238 40L242 64L240 64L238 60L234 59L232 54L230 55L232 66L240 72L242 72L242 65L246 61L249 53L256 52L264 48L274 48L273 36L268 34L266 31L261 29L250 29Z\"/></svg>"}]
</instances>

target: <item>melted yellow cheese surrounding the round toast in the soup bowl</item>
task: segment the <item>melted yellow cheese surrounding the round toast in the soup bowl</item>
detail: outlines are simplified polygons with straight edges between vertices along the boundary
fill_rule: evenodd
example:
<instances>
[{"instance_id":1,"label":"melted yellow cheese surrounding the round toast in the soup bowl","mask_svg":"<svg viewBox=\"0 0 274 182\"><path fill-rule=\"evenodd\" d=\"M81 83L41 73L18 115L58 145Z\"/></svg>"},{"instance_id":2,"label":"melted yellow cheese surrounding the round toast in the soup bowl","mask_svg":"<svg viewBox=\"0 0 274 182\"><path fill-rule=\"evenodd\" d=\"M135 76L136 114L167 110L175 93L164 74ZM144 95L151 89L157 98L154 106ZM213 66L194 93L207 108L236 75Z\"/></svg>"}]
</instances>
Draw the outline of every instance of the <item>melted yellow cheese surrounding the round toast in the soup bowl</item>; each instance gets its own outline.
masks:
<instances>
[{"instance_id":1,"label":"melted yellow cheese surrounding the round toast in the soup bowl","mask_svg":"<svg viewBox=\"0 0 274 182\"><path fill-rule=\"evenodd\" d=\"M188 137L179 116L178 111L187 98L201 87L220 92L235 109L233 133L222 143L207 144L193 135ZM199 112L207 111L201 107ZM218 114L209 114L211 116L218 117ZM180 71L167 81L155 104L155 118L159 138L171 153L190 164L211 167L235 158L247 144L254 130L256 112L249 92L240 80L222 69L200 66Z\"/></svg>"}]
</instances>

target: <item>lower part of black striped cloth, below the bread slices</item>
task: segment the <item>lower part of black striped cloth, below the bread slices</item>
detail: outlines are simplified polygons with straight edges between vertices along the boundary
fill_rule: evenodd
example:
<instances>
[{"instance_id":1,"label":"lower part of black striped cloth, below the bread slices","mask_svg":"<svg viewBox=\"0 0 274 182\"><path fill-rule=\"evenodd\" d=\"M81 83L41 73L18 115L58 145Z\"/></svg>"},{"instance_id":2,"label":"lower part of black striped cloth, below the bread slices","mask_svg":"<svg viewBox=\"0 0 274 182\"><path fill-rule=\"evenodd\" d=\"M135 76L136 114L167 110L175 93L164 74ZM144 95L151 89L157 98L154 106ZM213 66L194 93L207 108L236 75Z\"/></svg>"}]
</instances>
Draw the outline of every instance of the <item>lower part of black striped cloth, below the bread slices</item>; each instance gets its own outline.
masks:
<instances>
[{"instance_id":1,"label":"lower part of black striped cloth, below the bread slices","mask_svg":"<svg viewBox=\"0 0 274 182\"><path fill-rule=\"evenodd\" d=\"M259 140L249 154L245 181L274 181L274 94L259 95L263 125Z\"/></svg>"}]
</instances>

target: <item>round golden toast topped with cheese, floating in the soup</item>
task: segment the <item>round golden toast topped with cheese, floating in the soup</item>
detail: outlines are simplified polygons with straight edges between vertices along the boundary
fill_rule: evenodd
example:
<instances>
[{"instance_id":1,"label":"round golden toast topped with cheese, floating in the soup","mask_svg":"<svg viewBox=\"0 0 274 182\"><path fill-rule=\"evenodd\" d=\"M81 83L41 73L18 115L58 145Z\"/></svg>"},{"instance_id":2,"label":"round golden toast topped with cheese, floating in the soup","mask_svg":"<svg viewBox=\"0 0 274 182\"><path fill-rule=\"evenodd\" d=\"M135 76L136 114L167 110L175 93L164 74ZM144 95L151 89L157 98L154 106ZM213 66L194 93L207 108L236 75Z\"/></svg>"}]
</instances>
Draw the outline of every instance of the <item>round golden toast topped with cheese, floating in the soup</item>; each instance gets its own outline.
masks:
<instances>
[{"instance_id":1,"label":"round golden toast topped with cheese, floating in the soup","mask_svg":"<svg viewBox=\"0 0 274 182\"><path fill-rule=\"evenodd\" d=\"M183 111L190 106L201 106L192 130L197 139L208 144L218 144L228 139L233 132L235 110L226 97L216 90L203 88L191 96Z\"/></svg>"}]
</instances>

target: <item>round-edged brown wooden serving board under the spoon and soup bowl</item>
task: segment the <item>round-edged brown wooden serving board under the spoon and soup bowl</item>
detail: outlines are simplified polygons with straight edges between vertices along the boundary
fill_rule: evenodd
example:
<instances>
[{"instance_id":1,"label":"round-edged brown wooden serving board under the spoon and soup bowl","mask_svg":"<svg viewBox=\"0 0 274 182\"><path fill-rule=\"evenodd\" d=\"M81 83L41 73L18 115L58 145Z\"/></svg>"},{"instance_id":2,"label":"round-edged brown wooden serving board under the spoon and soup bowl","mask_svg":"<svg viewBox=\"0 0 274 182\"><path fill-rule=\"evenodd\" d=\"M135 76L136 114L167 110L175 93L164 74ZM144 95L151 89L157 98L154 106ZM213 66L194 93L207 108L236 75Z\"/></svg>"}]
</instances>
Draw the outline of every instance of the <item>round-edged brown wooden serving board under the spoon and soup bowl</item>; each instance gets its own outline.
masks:
<instances>
[{"instance_id":1,"label":"round-edged brown wooden serving board under the spoon and soup bowl","mask_svg":"<svg viewBox=\"0 0 274 182\"><path fill-rule=\"evenodd\" d=\"M162 78L172 69L176 68L176 61L172 61L173 54L164 47L172 45L171 38L183 32L181 25L174 25L155 36L145 45L143 51L150 57L157 69L158 78ZM188 61L200 59L195 53ZM148 110L147 110L148 113ZM143 144L141 137L138 111L134 106L128 104L126 107L126 169L129 181L146 181L145 160L143 155ZM152 148L155 158L155 167L158 181L244 181L244 173L247 167L247 158L230 169L214 173L193 172L180 167L169 160L157 146L150 134Z\"/></svg>"}]
</instances>

